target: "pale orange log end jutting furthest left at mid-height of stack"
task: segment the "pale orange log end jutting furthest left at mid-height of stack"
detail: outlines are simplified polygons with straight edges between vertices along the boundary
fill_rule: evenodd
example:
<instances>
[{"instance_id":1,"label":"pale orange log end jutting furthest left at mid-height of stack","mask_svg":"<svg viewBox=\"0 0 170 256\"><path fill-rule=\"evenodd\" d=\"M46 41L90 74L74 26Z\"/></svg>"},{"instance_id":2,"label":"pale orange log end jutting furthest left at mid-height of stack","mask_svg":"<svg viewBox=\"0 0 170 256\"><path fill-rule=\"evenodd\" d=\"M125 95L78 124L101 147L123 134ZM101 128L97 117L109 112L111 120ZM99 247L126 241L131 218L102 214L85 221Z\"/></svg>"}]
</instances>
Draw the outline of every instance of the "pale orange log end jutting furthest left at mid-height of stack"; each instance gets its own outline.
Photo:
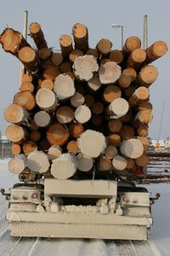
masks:
<instances>
[{"instance_id":1,"label":"pale orange log end jutting furthest left at mid-height of stack","mask_svg":"<svg viewBox=\"0 0 170 256\"><path fill-rule=\"evenodd\" d=\"M11 124L28 124L29 113L17 104L11 104L3 112L4 118Z\"/></svg>"}]
</instances>

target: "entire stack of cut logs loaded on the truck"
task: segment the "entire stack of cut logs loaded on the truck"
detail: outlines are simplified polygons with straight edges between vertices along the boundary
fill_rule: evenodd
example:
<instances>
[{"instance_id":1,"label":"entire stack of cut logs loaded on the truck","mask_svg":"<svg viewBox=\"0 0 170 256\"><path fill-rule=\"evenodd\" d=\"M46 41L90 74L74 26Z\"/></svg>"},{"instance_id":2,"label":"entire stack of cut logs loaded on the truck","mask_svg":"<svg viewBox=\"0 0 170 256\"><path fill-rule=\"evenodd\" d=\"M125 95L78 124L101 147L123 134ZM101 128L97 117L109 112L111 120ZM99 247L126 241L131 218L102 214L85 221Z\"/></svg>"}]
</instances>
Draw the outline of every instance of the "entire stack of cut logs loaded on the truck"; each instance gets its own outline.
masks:
<instances>
[{"instance_id":1,"label":"entire stack of cut logs loaded on the truck","mask_svg":"<svg viewBox=\"0 0 170 256\"><path fill-rule=\"evenodd\" d=\"M0 37L3 49L26 68L14 102L4 110L12 124L6 130L14 154L8 169L59 179L82 172L88 178L94 170L141 174L149 162L149 87L157 78L150 63L166 54L167 44L156 41L144 50L133 36L119 50L102 38L92 49L88 28L77 23L73 40L61 35L61 51L54 52L38 23L29 29L37 49L12 28Z\"/></svg>"}]
</instances>

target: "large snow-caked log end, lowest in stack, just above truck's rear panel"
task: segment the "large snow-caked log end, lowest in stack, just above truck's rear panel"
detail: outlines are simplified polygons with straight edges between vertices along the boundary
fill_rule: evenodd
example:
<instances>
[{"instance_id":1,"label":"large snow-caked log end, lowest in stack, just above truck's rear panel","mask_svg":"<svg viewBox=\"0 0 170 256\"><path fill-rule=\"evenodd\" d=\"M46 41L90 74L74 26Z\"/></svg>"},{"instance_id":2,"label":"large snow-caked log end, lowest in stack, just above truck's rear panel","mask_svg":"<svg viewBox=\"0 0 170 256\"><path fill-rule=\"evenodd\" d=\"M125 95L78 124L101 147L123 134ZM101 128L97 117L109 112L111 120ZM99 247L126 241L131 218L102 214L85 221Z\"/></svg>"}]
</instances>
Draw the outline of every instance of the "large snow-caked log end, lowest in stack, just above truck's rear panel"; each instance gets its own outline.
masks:
<instances>
[{"instance_id":1,"label":"large snow-caked log end, lowest in stack, just above truck's rear panel","mask_svg":"<svg viewBox=\"0 0 170 256\"><path fill-rule=\"evenodd\" d=\"M58 179L67 179L77 172L77 158L74 154L61 154L53 161L51 174Z\"/></svg>"}]
</instances>

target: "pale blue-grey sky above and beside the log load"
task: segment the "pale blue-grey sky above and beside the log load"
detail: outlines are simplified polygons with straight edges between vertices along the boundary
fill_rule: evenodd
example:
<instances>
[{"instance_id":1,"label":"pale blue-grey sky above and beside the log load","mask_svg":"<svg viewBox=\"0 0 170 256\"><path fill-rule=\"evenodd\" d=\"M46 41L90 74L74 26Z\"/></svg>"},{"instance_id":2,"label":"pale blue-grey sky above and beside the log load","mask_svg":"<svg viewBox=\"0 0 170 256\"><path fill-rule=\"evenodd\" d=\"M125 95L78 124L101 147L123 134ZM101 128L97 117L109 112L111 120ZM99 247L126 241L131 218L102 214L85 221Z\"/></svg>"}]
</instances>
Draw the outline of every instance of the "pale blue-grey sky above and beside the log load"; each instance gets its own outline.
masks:
<instances>
[{"instance_id":1,"label":"pale blue-grey sky above and beside the log load","mask_svg":"<svg viewBox=\"0 0 170 256\"><path fill-rule=\"evenodd\" d=\"M0 33L6 26L22 32L24 10L27 9L29 24L33 21L40 23L48 46L54 49L59 49L59 36L71 34L71 27L77 22L88 26L91 47L95 47L100 38L110 38L113 49L120 49L121 30L112 28L111 24L118 22L124 26L124 39L134 35L143 39L144 15L148 15L149 45L156 40L163 40L168 46L170 43L169 0L0 0L0 3ZM3 49L0 49L0 60L0 130L4 134L8 123L3 119L3 109L13 102L14 93L19 88L20 62L13 55L3 52ZM150 124L149 136L158 137L161 109L165 102L161 138L166 138L170 137L170 53L153 64L158 68L159 77L150 86L154 119Z\"/></svg>"}]
</instances>

